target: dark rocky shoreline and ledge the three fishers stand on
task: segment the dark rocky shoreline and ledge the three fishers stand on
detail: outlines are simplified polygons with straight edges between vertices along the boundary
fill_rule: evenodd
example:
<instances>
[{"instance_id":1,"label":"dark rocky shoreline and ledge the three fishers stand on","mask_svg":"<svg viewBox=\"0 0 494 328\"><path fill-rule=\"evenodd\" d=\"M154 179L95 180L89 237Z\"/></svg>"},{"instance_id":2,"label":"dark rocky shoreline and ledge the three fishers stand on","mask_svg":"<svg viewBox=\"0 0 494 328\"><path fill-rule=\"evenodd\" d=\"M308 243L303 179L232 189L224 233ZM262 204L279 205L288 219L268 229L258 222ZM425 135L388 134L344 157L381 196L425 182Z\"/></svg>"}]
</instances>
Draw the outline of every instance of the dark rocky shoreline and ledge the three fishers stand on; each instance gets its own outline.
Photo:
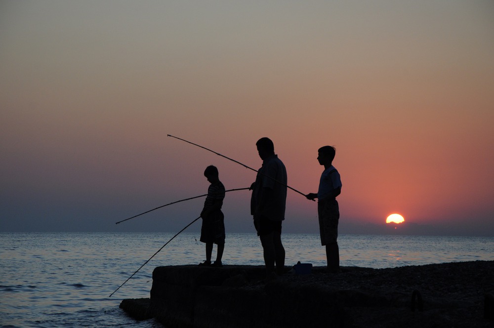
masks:
<instances>
[{"instance_id":1,"label":"dark rocky shoreline and ledge the three fishers stand on","mask_svg":"<svg viewBox=\"0 0 494 328\"><path fill-rule=\"evenodd\" d=\"M120 307L165 327L494 327L494 261L263 278L262 266L157 267L151 297Z\"/></svg>"}]
</instances>

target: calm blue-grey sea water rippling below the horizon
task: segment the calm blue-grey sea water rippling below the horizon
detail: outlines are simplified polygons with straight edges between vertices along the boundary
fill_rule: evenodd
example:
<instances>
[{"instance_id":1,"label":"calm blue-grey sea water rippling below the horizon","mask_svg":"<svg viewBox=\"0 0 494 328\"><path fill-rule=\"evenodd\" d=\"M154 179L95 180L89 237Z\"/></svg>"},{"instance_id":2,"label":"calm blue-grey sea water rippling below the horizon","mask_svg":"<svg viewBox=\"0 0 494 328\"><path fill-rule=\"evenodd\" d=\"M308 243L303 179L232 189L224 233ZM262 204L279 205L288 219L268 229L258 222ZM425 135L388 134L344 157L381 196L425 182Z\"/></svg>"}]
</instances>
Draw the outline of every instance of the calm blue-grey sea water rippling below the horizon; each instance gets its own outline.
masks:
<instances>
[{"instance_id":1,"label":"calm blue-grey sea water rippling below the horizon","mask_svg":"<svg viewBox=\"0 0 494 328\"><path fill-rule=\"evenodd\" d=\"M128 318L119 304L124 298L149 297L156 266L203 261L199 233L180 234L109 295L173 235L0 233L1 327L161 327L154 320ZM287 265L325 265L318 235L284 234L283 242ZM494 260L493 237L341 235L338 243L342 266ZM263 265L257 237L228 234L223 263Z\"/></svg>"}]
</instances>

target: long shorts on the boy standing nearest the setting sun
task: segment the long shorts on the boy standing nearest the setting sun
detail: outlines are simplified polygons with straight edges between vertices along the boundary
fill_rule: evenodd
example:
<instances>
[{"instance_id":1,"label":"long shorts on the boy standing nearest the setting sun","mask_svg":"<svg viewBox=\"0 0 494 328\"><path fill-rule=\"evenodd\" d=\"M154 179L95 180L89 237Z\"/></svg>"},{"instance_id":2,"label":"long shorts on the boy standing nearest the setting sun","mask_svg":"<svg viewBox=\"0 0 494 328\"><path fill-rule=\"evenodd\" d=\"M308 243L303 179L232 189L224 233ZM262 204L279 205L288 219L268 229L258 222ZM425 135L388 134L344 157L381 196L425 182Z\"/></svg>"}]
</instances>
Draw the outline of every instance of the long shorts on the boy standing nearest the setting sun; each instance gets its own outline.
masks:
<instances>
[{"instance_id":1,"label":"long shorts on the boy standing nearest the setting sun","mask_svg":"<svg viewBox=\"0 0 494 328\"><path fill-rule=\"evenodd\" d=\"M319 215L319 233L321 245L336 243L338 239L339 206L334 198L324 199L317 203Z\"/></svg>"}]
</instances>

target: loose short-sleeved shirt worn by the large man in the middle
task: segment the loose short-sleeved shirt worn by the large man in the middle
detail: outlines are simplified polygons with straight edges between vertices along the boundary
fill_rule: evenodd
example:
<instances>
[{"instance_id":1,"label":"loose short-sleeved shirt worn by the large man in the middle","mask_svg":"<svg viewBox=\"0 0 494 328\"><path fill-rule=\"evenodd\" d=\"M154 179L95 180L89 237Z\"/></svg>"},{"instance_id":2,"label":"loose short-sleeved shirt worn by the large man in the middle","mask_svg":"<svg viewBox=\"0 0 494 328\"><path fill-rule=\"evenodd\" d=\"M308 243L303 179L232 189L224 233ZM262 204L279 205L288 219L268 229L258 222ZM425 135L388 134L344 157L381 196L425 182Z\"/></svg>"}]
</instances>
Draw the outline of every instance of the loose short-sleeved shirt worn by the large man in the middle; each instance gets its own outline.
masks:
<instances>
[{"instance_id":1,"label":"loose short-sleeved shirt worn by the large man in the middle","mask_svg":"<svg viewBox=\"0 0 494 328\"><path fill-rule=\"evenodd\" d=\"M266 195L262 193L263 188L271 189ZM270 199L263 202L264 208L259 215L263 215L272 221L285 220L285 209L287 204L287 169L285 164L277 155L268 157L262 162L255 178L255 185L250 199L250 212L255 214L256 205L261 197Z\"/></svg>"}]
</instances>

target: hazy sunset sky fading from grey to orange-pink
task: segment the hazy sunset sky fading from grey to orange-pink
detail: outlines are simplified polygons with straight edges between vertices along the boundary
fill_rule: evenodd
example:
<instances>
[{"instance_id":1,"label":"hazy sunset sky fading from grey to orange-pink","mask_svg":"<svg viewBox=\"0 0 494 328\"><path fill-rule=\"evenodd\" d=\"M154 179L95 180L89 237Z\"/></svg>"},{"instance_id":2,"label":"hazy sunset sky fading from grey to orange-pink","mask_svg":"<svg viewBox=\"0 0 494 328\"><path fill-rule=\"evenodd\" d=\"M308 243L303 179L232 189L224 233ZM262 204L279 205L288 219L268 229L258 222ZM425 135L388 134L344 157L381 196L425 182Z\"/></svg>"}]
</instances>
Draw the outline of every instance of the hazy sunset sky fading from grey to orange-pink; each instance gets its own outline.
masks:
<instances>
[{"instance_id":1,"label":"hazy sunset sky fading from grey to orange-pink","mask_svg":"<svg viewBox=\"0 0 494 328\"><path fill-rule=\"evenodd\" d=\"M0 1L0 232L178 232L269 137L339 232L494 236L494 2ZM253 232L250 192L227 232ZM391 213L405 222L385 224ZM396 229L395 229L396 228ZM191 226L198 231L200 223ZM288 191L286 233L318 233Z\"/></svg>"}]
</instances>

